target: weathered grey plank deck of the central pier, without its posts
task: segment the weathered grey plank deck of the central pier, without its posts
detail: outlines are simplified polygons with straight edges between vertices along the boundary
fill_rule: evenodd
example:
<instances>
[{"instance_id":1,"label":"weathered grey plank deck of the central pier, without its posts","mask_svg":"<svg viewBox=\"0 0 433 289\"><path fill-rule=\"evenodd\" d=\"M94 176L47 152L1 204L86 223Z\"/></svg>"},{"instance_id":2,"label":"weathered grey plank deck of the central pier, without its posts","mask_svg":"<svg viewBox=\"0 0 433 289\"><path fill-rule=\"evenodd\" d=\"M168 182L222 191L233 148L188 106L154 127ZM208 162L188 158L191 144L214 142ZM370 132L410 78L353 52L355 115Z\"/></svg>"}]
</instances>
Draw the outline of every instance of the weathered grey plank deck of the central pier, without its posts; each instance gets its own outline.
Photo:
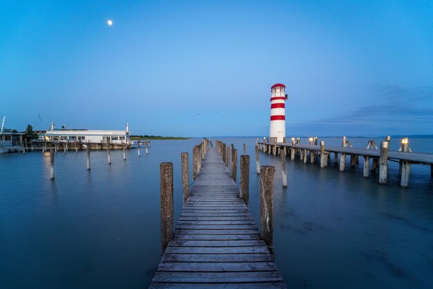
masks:
<instances>
[{"instance_id":1,"label":"weathered grey plank deck of the central pier, without its posts","mask_svg":"<svg viewBox=\"0 0 433 289\"><path fill-rule=\"evenodd\" d=\"M286 288L213 147L149 288Z\"/></svg>"}]
</instances>

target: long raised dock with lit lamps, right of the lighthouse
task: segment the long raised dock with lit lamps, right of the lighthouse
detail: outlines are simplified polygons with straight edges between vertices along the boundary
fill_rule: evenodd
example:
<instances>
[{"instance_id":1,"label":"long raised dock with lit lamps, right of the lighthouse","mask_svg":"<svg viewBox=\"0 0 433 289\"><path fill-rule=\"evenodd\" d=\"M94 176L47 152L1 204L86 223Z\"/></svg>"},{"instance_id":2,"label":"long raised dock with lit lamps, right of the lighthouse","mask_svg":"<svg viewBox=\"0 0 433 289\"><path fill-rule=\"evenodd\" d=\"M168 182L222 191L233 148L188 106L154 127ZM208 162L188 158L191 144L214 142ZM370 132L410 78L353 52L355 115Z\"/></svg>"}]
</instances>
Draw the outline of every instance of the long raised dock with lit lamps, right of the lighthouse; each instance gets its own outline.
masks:
<instances>
[{"instance_id":1,"label":"long raised dock with lit lamps, right of the lighthouse","mask_svg":"<svg viewBox=\"0 0 433 289\"><path fill-rule=\"evenodd\" d=\"M328 162L331 161L331 155L333 155L333 162L335 165L340 164L340 171L345 169L347 156L350 157L351 167L355 167L359 163L359 158L362 157L364 158L363 176L368 178L370 171L375 173L378 170L381 185L387 184L389 161L399 163L401 187L409 186L411 165L430 165L430 176L433 176L432 153L412 152L407 138L401 140L398 151L390 151L389 140L390 137L387 136L383 142L380 142L379 147L374 140L369 140L365 149L352 147L346 137L342 138L341 147L326 146L324 141L319 142L317 137L309 138L308 144L301 144L300 138L291 138L291 142L277 142L275 138L271 138L271 140L265 138L262 142L257 142L257 145L259 150L264 153L277 155L284 151L284 154L290 156L291 160L299 157L304 163L314 163L318 159L317 162L320 163L321 168L327 167Z\"/></svg>"}]
</instances>

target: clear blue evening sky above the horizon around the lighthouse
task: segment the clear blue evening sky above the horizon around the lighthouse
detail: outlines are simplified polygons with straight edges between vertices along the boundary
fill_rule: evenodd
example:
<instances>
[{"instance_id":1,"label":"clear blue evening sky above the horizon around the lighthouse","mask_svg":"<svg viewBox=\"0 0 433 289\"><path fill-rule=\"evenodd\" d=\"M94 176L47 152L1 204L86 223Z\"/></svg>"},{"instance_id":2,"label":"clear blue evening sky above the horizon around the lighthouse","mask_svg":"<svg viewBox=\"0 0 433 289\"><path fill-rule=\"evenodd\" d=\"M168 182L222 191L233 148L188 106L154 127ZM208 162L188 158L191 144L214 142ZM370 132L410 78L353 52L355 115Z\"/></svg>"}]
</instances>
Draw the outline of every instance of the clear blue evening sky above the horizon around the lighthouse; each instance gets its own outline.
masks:
<instances>
[{"instance_id":1,"label":"clear blue evening sky above the horizon around the lighthouse","mask_svg":"<svg viewBox=\"0 0 433 289\"><path fill-rule=\"evenodd\" d=\"M432 15L433 1L3 0L0 115L267 136L282 82L288 136L433 133Z\"/></svg>"}]
</instances>

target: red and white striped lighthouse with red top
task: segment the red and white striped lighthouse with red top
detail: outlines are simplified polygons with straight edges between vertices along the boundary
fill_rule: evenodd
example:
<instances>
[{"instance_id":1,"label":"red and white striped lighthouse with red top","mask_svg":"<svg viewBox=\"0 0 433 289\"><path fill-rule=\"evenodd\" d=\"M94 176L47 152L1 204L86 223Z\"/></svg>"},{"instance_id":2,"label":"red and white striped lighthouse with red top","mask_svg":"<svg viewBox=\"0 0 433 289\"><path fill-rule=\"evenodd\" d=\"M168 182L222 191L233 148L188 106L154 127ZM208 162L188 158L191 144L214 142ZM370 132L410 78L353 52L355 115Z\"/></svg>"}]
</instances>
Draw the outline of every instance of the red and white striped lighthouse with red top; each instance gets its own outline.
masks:
<instances>
[{"instance_id":1,"label":"red and white striped lighthouse with red top","mask_svg":"<svg viewBox=\"0 0 433 289\"><path fill-rule=\"evenodd\" d=\"M269 141L284 142L286 138L286 86L281 83L270 88Z\"/></svg>"}]
</instances>

